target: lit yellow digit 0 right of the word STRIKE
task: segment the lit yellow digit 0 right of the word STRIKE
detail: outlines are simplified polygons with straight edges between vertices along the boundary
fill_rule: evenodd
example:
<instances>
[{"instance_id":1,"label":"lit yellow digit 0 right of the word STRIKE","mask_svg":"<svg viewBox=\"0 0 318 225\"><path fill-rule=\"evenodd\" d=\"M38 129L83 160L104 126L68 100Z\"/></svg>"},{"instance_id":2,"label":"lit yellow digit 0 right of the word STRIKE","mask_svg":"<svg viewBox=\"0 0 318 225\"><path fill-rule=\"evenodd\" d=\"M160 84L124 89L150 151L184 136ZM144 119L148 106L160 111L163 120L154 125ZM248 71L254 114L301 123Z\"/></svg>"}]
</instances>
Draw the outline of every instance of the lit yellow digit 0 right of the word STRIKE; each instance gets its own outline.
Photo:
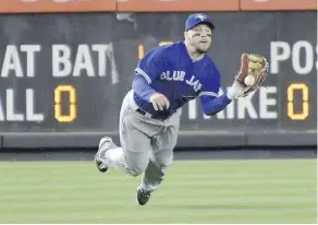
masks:
<instances>
[{"instance_id":1,"label":"lit yellow digit 0 right of the word STRIKE","mask_svg":"<svg viewBox=\"0 0 318 225\"><path fill-rule=\"evenodd\" d=\"M296 91L302 92L303 96L303 107L302 111L296 114L295 107L294 107L294 93ZM309 88L306 84L299 83L299 84L291 84L288 88L288 115L292 120L305 120L309 115Z\"/></svg>"}]
</instances>

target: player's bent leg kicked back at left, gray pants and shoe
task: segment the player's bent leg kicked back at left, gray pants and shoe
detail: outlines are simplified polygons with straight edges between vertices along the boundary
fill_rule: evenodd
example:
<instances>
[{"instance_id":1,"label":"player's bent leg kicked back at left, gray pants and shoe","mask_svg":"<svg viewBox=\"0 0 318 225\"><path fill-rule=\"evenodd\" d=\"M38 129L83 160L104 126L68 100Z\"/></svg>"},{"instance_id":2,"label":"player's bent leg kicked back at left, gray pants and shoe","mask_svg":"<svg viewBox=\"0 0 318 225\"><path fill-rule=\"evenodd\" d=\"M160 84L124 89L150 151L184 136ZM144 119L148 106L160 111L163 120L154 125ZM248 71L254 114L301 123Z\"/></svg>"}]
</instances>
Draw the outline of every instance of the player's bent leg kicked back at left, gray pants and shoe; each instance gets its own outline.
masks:
<instances>
[{"instance_id":1,"label":"player's bent leg kicked back at left, gray pants and shoe","mask_svg":"<svg viewBox=\"0 0 318 225\"><path fill-rule=\"evenodd\" d=\"M96 154L96 164L100 171L111 167L121 168L132 176L146 170L151 151L150 137L160 128L147 125L140 115L130 107L129 95L124 98L120 114L121 146L113 144L110 138L100 140Z\"/></svg>"}]
</instances>

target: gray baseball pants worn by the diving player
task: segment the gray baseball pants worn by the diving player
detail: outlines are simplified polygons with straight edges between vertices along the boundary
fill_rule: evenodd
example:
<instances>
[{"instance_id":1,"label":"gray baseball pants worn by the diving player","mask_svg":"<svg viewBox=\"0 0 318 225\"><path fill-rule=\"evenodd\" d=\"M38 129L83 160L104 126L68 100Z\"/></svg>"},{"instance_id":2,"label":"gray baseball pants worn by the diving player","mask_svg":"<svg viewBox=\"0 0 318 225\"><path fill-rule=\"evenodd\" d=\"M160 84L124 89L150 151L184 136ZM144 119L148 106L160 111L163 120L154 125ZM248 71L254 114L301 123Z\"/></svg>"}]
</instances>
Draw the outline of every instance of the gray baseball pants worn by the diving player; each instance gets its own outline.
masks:
<instances>
[{"instance_id":1,"label":"gray baseball pants worn by the diving player","mask_svg":"<svg viewBox=\"0 0 318 225\"><path fill-rule=\"evenodd\" d=\"M123 152L123 162L118 165L132 176L143 174L140 187L155 191L173 159L181 110L167 120L158 120L137 112L137 108L131 91L124 97L120 112L121 147L114 151Z\"/></svg>"}]
</instances>

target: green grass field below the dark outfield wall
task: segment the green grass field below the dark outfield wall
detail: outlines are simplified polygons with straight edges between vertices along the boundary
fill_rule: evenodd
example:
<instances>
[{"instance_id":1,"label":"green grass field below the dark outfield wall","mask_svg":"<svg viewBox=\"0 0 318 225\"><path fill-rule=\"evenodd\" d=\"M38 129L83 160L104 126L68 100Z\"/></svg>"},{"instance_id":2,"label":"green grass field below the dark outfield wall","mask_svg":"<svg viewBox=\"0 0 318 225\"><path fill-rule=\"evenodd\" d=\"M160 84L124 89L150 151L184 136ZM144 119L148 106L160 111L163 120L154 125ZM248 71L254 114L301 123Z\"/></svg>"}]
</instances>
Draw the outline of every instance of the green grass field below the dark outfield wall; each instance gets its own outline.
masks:
<instances>
[{"instance_id":1,"label":"green grass field below the dark outfield wall","mask_svg":"<svg viewBox=\"0 0 318 225\"><path fill-rule=\"evenodd\" d=\"M0 163L0 223L316 223L315 159L178 161L139 206L140 177L94 162Z\"/></svg>"}]
</instances>

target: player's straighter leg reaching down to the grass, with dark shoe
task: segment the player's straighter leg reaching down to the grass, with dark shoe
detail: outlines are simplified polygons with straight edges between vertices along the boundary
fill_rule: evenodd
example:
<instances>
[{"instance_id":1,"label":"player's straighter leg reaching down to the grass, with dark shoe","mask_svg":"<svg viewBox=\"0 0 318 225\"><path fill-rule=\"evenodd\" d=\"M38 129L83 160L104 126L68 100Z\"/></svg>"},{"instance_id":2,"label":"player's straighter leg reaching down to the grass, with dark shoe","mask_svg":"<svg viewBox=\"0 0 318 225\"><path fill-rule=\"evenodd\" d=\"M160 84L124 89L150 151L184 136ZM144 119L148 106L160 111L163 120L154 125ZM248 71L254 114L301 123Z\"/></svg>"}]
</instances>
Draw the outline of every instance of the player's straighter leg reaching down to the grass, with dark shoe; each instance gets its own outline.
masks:
<instances>
[{"instance_id":1,"label":"player's straighter leg reaching down to the grass, with dark shoe","mask_svg":"<svg viewBox=\"0 0 318 225\"><path fill-rule=\"evenodd\" d=\"M168 122L162 133L152 139L149 164L143 174L142 183L137 188L137 201L140 205L148 202L151 193L157 190L166 177L167 169L173 161L173 149L178 141L179 115Z\"/></svg>"}]
</instances>

